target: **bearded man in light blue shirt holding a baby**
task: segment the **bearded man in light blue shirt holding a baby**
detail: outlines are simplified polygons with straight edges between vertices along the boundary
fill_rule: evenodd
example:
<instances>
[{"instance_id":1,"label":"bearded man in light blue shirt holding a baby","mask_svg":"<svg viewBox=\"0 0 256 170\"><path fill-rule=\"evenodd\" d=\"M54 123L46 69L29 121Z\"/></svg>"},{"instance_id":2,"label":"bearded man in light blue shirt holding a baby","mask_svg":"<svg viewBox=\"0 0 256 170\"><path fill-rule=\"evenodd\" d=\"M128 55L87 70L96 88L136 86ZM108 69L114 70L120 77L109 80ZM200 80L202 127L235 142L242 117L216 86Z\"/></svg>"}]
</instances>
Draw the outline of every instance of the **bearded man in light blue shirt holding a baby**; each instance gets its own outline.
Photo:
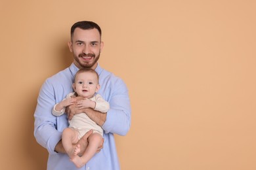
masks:
<instances>
[{"instance_id":1,"label":"bearded man in light blue shirt holding a baby","mask_svg":"<svg viewBox=\"0 0 256 170\"><path fill-rule=\"evenodd\" d=\"M101 41L101 29L97 24L87 21L75 23L71 28L71 41L68 42L68 46L74 55L74 62L70 67L45 80L34 114L35 139L49 152L47 169L77 169L65 154L61 135L63 129L68 127L68 118L72 119L72 116L79 112L85 112L104 129L103 148L81 169L119 169L114 133L126 135L131 125L131 106L127 87L121 78L102 69L97 62L104 46ZM84 67L95 69L100 76L101 88L98 93L110 103L110 110L102 114L93 109L79 110L74 104L67 109L68 116L66 114L53 116L51 113L53 106L72 92L74 75ZM89 135L91 132L86 133L78 142L82 150L85 150L88 144Z\"/></svg>"}]
</instances>

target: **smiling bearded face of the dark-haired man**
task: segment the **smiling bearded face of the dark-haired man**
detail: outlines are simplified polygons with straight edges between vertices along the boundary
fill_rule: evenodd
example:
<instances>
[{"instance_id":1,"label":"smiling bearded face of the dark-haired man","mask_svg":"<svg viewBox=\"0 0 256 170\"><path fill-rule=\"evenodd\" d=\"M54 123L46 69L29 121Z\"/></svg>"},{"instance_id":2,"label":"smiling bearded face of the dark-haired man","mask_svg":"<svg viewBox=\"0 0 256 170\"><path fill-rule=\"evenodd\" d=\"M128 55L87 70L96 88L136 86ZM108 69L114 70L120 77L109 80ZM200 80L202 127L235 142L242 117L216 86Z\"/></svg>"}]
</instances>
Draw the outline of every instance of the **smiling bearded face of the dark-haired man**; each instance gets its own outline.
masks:
<instances>
[{"instance_id":1,"label":"smiling bearded face of the dark-haired man","mask_svg":"<svg viewBox=\"0 0 256 170\"><path fill-rule=\"evenodd\" d=\"M79 69L96 69L103 45L97 29L75 28L72 40L68 42L70 52L74 55L74 63Z\"/></svg>"}]
</instances>

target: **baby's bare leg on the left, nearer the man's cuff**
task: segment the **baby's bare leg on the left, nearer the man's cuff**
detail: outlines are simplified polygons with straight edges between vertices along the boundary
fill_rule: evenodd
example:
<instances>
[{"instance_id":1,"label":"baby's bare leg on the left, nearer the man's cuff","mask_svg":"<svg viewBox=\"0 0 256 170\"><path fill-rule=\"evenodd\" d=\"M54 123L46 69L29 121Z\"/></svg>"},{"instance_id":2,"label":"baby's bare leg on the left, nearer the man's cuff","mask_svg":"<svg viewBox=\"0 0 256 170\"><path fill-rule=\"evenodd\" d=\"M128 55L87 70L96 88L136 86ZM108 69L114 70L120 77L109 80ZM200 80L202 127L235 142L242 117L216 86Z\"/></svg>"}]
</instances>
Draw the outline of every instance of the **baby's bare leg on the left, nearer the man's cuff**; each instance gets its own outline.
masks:
<instances>
[{"instance_id":1,"label":"baby's bare leg on the left, nearer the man's cuff","mask_svg":"<svg viewBox=\"0 0 256 170\"><path fill-rule=\"evenodd\" d=\"M75 129L66 128L62 132L62 144L70 158L74 157L74 146L73 144L78 141L78 132Z\"/></svg>"}]
</instances>

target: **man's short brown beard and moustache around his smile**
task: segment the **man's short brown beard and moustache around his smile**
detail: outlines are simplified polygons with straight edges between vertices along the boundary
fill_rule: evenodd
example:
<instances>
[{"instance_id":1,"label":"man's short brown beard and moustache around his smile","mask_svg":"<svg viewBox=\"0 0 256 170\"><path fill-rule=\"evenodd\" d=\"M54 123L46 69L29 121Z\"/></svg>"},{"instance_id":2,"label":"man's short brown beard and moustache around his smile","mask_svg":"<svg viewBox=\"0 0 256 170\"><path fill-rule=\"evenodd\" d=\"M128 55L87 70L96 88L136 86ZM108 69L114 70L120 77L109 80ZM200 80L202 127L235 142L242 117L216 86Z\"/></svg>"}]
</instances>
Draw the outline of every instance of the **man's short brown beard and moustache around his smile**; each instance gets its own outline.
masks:
<instances>
[{"instance_id":1,"label":"man's short brown beard and moustache around his smile","mask_svg":"<svg viewBox=\"0 0 256 170\"><path fill-rule=\"evenodd\" d=\"M90 57L93 59L93 61L92 62L91 61L83 61L82 59L80 59L83 57ZM95 54L79 54L78 57L75 57L75 61L77 61L77 63L79 64L80 67L91 68L97 63L99 58L100 58L100 52L98 53L98 56L95 56Z\"/></svg>"}]
</instances>

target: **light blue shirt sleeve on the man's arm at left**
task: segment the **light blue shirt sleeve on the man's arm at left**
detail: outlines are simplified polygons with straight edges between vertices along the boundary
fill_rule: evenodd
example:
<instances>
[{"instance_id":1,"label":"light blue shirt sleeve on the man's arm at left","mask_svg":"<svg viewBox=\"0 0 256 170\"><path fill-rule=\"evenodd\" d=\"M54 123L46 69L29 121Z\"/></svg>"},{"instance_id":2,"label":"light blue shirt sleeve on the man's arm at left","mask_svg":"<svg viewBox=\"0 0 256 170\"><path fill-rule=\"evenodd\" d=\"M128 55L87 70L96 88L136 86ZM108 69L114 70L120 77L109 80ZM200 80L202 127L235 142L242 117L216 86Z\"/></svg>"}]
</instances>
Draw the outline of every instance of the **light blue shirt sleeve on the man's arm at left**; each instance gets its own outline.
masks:
<instances>
[{"instance_id":1,"label":"light blue shirt sleeve on the man's arm at left","mask_svg":"<svg viewBox=\"0 0 256 170\"><path fill-rule=\"evenodd\" d=\"M46 80L37 99L37 107L34 113L34 135L37 142L47 148L49 154L56 154L54 148L62 136L62 132L56 130L56 118L58 117L52 114L54 105L53 86Z\"/></svg>"}]
</instances>

